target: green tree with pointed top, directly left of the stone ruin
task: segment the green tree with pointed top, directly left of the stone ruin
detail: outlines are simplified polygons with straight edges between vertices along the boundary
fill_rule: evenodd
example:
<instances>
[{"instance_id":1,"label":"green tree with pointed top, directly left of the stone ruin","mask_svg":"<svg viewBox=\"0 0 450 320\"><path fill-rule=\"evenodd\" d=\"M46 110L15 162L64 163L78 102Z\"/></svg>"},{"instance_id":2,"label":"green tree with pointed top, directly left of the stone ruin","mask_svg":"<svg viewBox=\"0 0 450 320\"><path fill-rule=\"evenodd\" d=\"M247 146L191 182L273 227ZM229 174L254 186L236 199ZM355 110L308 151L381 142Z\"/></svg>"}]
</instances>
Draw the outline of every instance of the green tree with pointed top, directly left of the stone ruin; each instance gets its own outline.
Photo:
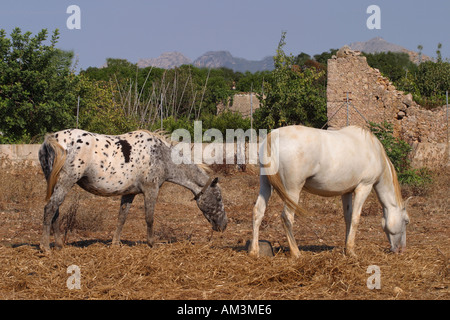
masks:
<instances>
[{"instance_id":1,"label":"green tree with pointed top, directly left of the stone ruin","mask_svg":"<svg viewBox=\"0 0 450 320\"><path fill-rule=\"evenodd\" d=\"M315 68L298 70L294 57L285 54L286 33L283 32L274 57L275 70L264 82L266 97L254 113L255 126L273 129L303 124L321 127L326 122L326 95L320 78L324 71Z\"/></svg>"}]
</instances>

